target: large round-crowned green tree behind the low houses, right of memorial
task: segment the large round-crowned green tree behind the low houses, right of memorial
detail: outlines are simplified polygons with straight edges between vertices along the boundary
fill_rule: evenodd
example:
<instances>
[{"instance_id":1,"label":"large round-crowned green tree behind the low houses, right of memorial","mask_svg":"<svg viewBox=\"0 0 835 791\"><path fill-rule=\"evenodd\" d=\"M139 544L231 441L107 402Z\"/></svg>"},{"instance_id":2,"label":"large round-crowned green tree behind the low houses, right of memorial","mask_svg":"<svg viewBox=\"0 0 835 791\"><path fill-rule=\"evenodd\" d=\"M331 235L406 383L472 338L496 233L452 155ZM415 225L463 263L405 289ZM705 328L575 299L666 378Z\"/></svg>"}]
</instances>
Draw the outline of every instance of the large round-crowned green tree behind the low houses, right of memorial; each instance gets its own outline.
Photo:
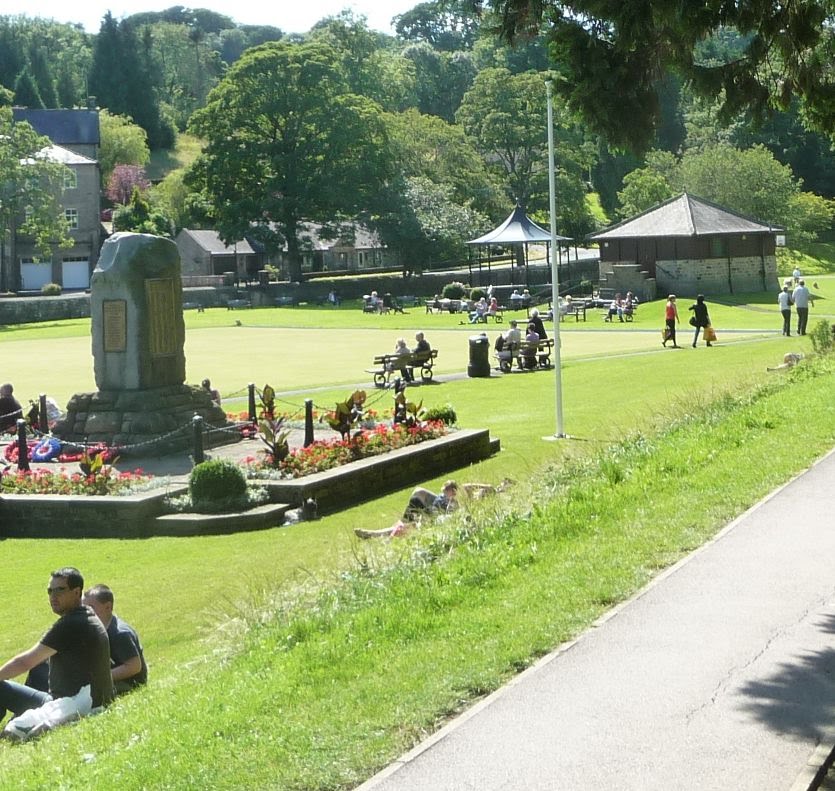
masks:
<instances>
[{"instance_id":1,"label":"large round-crowned green tree behind the low houses, right of memorial","mask_svg":"<svg viewBox=\"0 0 835 791\"><path fill-rule=\"evenodd\" d=\"M284 243L301 277L300 224L366 210L391 172L379 107L349 93L331 49L274 42L249 50L194 114L206 141L190 174L226 242Z\"/></svg>"}]
</instances>

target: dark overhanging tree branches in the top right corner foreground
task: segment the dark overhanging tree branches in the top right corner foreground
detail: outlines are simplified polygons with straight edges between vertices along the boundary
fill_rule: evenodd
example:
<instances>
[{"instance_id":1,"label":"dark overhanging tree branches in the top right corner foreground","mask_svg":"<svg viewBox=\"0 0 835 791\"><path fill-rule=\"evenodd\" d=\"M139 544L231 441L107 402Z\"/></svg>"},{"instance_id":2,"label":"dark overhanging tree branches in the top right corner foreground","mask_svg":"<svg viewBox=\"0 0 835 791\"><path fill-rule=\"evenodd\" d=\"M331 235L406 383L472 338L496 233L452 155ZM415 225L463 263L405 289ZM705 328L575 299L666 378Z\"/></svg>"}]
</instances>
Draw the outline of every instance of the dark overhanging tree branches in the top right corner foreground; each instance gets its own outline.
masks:
<instances>
[{"instance_id":1,"label":"dark overhanging tree branches in the top right corner foreground","mask_svg":"<svg viewBox=\"0 0 835 791\"><path fill-rule=\"evenodd\" d=\"M638 151L650 144L659 118L657 80L669 72L698 95L720 99L726 118L745 109L762 120L797 97L819 128L835 126L829 2L476 2L489 3L508 40L546 32L564 76L557 90L610 143ZM726 28L742 37L741 55L715 47L711 59L700 58L701 42Z\"/></svg>"}]
</instances>

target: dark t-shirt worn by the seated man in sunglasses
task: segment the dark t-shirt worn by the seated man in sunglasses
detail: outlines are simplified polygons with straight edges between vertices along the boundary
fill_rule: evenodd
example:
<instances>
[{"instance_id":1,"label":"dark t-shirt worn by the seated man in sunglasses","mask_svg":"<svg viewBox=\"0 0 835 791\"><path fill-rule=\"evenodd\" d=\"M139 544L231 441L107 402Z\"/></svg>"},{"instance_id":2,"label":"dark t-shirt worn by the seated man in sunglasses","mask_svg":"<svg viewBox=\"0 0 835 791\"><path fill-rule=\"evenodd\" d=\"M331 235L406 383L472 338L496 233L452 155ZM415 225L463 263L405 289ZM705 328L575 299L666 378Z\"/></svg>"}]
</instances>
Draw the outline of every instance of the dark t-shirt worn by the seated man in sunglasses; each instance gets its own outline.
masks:
<instances>
[{"instance_id":1,"label":"dark t-shirt worn by the seated man in sunglasses","mask_svg":"<svg viewBox=\"0 0 835 791\"><path fill-rule=\"evenodd\" d=\"M62 615L41 638L55 650L49 658L49 692L66 698L90 685L93 706L113 700L110 644L98 616L84 605Z\"/></svg>"}]
</instances>

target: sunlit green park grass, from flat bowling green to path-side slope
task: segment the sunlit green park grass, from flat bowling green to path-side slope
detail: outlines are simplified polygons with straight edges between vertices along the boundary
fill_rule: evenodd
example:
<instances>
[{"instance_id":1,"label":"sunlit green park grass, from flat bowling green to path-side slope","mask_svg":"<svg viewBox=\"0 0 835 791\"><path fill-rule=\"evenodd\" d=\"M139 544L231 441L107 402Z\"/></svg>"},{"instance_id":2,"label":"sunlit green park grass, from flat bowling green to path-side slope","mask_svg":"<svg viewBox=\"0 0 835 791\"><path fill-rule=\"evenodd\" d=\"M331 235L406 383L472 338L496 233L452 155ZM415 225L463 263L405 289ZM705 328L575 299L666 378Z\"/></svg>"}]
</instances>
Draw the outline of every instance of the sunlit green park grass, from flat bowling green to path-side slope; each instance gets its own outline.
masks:
<instances>
[{"instance_id":1,"label":"sunlit green park grass, from flat bowling green to path-side slope","mask_svg":"<svg viewBox=\"0 0 835 791\"><path fill-rule=\"evenodd\" d=\"M826 282L835 297L835 281ZM120 787L137 789L239 788L242 778L252 788L338 788L366 776L831 447L831 371L800 377L778 388L773 400L740 406L729 398L782 382L785 377L766 373L766 366L780 362L786 351L810 351L808 338L776 334L776 309L767 315L753 305L715 307L720 342L713 349L662 349L660 304L641 306L638 320L623 329L602 320L596 325L591 315L587 327L562 325L561 384L571 438L560 442L542 439L555 430L554 372L416 388L426 405L450 403L462 426L487 426L502 440L500 454L460 471L459 480L517 481L499 508L496 534L488 531L496 543L485 542L484 558L476 551L480 542L466 540L464 565L456 565L453 553L452 565L439 566L438 577L427 571L422 582L408 575L400 580L396 570L411 567L410 542L369 547L353 536L359 525L390 524L405 492L315 523L237 536L4 541L0 568L15 595L0 603L0 656L37 640L51 621L42 594L48 573L74 564L91 583L114 586L117 611L142 634L152 688L98 721L4 751L0 788L91 788L111 770ZM288 317L296 326L279 326ZM374 353L393 346L398 333L418 328L441 349L439 372L461 372L473 331L449 316L368 317L347 309L207 311L188 314L187 321L191 380L209 375L224 393L247 381L303 391L286 397L288 410L306 393L318 406L332 405L347 395L347 387L364 381L357 375ZM63 329L63 337L54 326L44 338L36 328L0 333L0 355L15 372L20 395L42 390L44 381L59 401L92 388L85 324L70 322ZM488 328L491 337L495 329ZM689 337L689 327L682 331ZM390 395L379 395L384 406ZM775 452L784 447L798 404L807 425L812 420L815 426L802 458ZM734 422L723 423L723 412ZM691 415L702 417L685 419ZM691 423L695 433L688 434ZM582 479L584 459L636 432L652 437L647 458L630 460L626 450L622 458L616 454L600 467L602 482L590 479L579 500L585 502L586 524L594 515L594 534L581 530L575 541L571 530L560 532L566 515L562 506L552 510L545 496L567 485L559 471L580 465ZM722 466L704 455L725 451ZM750 474L736 474L742 465ZM428 474L428 485L437 486L439 479ZM632 488L621 487L624 481ZM647 525L635 545L631 539L611 543L617 523L612 515L622 513L624 503L633 511L640 506ZM669 519L654 517L650 506L698 518L663 537L657 527ZM486 525L492 517L483 518ZM520 540L503 549L508 524L518 526ZM543 557L551 560L531 566L538 541L550 547ZM257 626L268 603L284 604L304 590L338 589L346 574L361 579L363 570L384 571L392 552L394 582L372 575L368 588L360 585L361 595L355 591L364 605L357 609L354 603L346 612L356 611L358 620L341 607L319 604L308 611L307 625L288 626L282 617L278 623L285 626ZM551 590L548 581L560 575L576 586ZM391 610L381 610L389 584L395 585ZM551 614L542 620L544 613L534 606L537 591L549 590L540 604ZM450 620L439 621L447 607ZM528 611L520 620L519 613ZM494 631L502 627L504 636ZM288 635L304 650L288 651ZM220 654L214 650L219 646ZM447 659L455 660L449 673L433 675L431 668ZM107 750L100 753L104 744Z\"/></svg>"}]
</instances>

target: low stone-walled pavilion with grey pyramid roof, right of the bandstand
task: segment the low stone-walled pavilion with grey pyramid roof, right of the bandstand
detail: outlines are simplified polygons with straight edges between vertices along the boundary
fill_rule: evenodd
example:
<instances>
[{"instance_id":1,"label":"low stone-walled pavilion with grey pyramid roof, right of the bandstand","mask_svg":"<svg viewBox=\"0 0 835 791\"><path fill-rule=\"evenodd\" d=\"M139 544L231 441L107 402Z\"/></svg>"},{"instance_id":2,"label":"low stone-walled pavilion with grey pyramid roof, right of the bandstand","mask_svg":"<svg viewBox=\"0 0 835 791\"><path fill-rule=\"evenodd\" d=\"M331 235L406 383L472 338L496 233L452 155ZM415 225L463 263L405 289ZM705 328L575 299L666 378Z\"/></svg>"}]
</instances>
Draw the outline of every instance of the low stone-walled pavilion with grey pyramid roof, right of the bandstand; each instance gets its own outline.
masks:
<instances>
[{"instance_id":1,"label":"low stone-walled pavilion with grey pyramid roof, right of the bandstand","mask_svg":"<svg viewBox=\"0 0 835 791\"><path fill-rule=\"evenodd\" d=\"M685 192L586 238L600 246L601 287L647 300L769 291L782 233Z\"/></svg>"}]
</instances>

